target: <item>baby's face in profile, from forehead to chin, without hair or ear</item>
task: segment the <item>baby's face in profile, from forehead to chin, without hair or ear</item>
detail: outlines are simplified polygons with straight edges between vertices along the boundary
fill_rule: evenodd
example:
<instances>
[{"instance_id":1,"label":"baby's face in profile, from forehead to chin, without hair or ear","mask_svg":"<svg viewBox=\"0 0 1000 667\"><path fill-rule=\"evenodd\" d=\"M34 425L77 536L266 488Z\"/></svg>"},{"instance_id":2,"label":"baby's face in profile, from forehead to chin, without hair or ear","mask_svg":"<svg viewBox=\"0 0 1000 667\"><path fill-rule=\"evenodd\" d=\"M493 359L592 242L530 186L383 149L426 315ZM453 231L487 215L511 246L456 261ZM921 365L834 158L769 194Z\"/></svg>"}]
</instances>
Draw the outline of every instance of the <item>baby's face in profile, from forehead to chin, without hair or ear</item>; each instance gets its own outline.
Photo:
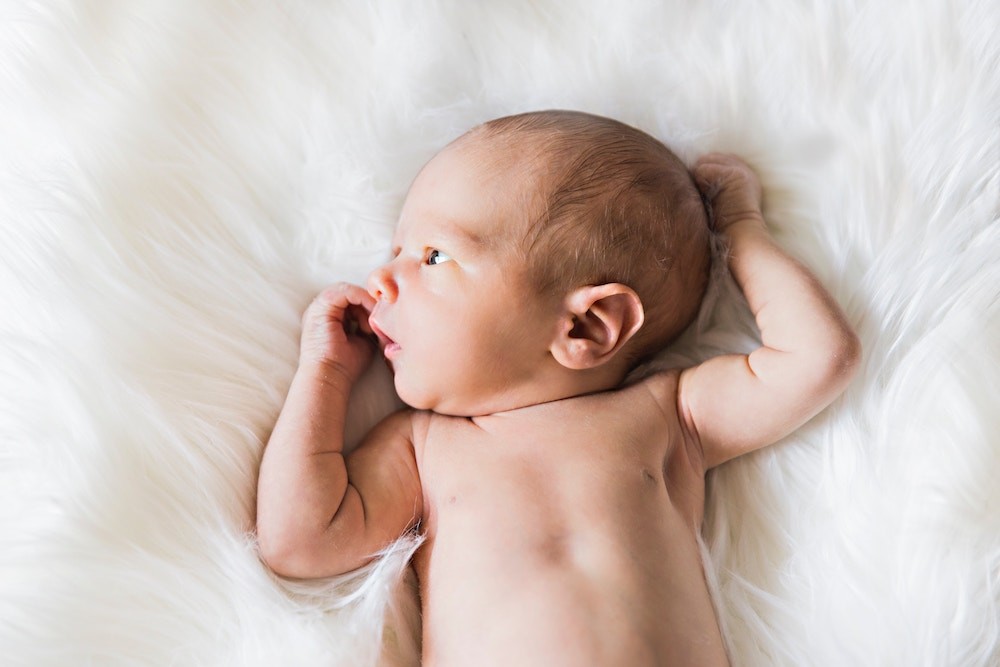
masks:
<instances>
[{"instance_id":1,"label":"baby's face in profile, from forehead to chin, without hair or ear","mask_svg":"<svg viewBox=\"0 0 1000 667\"><path fill-rule=\"evenodd\" d=\"M396 391L443 414L517 407L555 332L555 304L526 284L509 240L529 215L512 204L519 179L482 157L460 142L424 167L403 204L394 259L368 280Z\"/></svg>"}]
</instances>

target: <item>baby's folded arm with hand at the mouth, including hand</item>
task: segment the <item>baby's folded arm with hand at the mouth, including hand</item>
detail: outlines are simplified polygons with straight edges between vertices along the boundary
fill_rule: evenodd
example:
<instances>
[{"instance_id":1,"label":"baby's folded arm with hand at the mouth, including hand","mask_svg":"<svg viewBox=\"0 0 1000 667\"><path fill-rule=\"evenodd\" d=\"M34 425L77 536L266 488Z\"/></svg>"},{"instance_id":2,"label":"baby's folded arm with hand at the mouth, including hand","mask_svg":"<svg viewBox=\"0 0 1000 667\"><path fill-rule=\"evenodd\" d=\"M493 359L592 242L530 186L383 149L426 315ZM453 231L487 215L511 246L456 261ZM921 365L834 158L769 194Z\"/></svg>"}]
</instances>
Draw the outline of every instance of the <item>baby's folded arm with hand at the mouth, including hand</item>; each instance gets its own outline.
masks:
<instances>
[{"instance_id":1,"label":"baby's folded arm with hand at the mouth, including hand","mask_svg":"<svg viewBox=\"0 0 1000 667\"><path fill-rule=\"evenodd\" d=\"M351 386L371 361L374 302L355 285L323 291L302 323L299 367L257 485L261 556L278 574L312 578L363 565L421 513L409 413L376 426L344 457ZM353 323L352 323L353 322Z\"/></svg>"}]
</instances>

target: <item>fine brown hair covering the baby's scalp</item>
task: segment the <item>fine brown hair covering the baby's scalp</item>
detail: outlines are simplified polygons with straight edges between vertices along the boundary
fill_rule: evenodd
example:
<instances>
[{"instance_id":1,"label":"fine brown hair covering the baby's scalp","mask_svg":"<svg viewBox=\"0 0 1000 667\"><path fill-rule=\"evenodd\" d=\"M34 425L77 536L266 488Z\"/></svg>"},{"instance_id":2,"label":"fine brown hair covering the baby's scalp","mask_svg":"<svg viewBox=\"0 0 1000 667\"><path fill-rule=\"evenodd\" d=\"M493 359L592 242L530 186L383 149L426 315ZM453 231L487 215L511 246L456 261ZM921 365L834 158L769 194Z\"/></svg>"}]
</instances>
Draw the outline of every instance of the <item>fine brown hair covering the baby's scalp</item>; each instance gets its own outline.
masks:
<instances>
[{"instance_id":1,"label":"fine brown hair covering the baby's scalp","mask_svg":"<svg viewBox=\"0 0 1000 667\"><path fill-rule=\"evenodd\" d=\"M530 284L555 294L606 283L635 290L645 317L623 349L629 366L690 324L708 281L709 225L687 167L663 143L576 111L498 118L460 141L515 156L523 170L529 223L515 247Z\"/></svg>"}]
</instances>

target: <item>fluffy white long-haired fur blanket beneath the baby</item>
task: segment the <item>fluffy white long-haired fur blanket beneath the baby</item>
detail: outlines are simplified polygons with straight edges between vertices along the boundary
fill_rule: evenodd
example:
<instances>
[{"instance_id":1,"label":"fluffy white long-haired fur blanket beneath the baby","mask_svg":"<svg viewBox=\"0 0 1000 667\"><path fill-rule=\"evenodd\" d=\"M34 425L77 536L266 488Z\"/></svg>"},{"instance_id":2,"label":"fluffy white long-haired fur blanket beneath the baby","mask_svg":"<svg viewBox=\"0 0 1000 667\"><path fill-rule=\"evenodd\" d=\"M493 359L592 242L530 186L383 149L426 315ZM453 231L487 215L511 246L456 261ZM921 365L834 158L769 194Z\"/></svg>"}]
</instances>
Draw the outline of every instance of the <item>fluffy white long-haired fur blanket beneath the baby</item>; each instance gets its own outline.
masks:
<instances>
[{"instance_id":1,"label":"fluffy white long-haired fur blanket beneath the baby","mask_svg":"<svg viewBox=\"0 0 1000 667\"><path fill-rule=\"evenodd\" d=\"M408 545L252 540L299 317L472 125L577 108L743 155L865 347L713 473L736 665L1000 664L1000 4L0 3L0 662L413 664ZM746 344L721 292L674 351ZM394 405L384 373L352 433ZM475 585L475 582L470 582Z\"/></svg>"}]
</instances>

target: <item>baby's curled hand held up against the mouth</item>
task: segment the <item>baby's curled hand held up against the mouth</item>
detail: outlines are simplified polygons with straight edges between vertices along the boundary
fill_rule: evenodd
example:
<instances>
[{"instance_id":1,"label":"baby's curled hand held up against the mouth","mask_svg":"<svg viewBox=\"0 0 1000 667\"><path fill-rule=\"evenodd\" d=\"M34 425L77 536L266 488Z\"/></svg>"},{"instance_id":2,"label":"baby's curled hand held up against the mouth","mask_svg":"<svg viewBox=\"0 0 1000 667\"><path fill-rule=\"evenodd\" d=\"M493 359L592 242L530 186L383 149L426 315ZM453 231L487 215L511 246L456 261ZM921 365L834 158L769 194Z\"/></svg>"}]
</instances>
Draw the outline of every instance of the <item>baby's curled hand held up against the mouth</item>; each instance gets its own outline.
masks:
<instances>
[{"instance_id":1,"label":"baby's curled hand held up against the mouth","mask_svg":"<svg viewBox=\"0 0 1000 667\"><path fill-rule=\"evenodd\" d=\"M299 364L327 363L357 380L375 351L368 325L374 307L375 299L357 285L337 283L320 292L302 316Z\"/></svg>"}]
</instances>

